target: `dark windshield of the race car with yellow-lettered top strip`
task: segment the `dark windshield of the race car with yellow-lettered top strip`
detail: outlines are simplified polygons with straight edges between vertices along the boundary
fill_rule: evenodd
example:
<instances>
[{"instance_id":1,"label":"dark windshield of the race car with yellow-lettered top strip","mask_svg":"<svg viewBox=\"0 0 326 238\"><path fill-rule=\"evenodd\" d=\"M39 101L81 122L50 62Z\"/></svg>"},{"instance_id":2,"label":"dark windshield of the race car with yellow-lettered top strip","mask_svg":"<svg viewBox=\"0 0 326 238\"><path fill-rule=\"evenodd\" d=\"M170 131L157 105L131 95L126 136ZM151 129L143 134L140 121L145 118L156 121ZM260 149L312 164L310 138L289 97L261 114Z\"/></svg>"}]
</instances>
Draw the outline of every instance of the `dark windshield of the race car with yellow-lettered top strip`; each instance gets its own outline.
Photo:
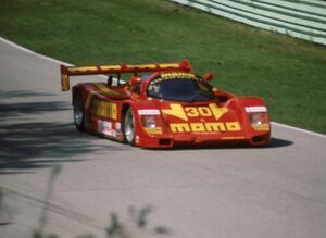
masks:
<instances>
[{"instance_id":1,"label":"dark windshield of the race car with yellow-lettered top strip","mask_svg":"<svg viewBox=\"0 0 326 238\"><path fill-rule=\"evenodd\" d=\"M173 101L208 101L214 98L208 84L190 73L162 74L150 82L147 93Z\"/></svg>"}]
</instances>

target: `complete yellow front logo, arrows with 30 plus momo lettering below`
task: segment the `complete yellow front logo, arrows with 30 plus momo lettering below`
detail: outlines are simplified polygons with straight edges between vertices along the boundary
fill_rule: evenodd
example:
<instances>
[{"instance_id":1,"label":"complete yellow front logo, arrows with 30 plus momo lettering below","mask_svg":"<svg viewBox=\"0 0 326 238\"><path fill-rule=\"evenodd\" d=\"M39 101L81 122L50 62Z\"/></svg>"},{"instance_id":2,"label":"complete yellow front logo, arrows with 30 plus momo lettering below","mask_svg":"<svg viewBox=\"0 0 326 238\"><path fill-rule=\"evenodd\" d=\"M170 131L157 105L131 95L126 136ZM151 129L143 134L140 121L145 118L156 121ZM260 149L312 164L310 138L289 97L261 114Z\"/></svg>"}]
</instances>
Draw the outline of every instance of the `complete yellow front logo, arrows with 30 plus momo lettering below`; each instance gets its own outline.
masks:
<instances>
[{"instance_id":1,"label":"complete yellow front logo, arrows with 30 plus momo lettering below","mask_svg":"<svg viewBox=\"0 0 326 238\"><path fill-rule=\"evenodd\" d=\"M184 123L170 123L172 133L217 133L217 131L239 131L239 122L198 122L187 123L189 117L214 117L218 121L227 112L226 108L218 108L215 103L208 107L183 107L171 104L170 109L162 110L165 115L175 116L185 121Z\"/></svg>"}]
</instances>

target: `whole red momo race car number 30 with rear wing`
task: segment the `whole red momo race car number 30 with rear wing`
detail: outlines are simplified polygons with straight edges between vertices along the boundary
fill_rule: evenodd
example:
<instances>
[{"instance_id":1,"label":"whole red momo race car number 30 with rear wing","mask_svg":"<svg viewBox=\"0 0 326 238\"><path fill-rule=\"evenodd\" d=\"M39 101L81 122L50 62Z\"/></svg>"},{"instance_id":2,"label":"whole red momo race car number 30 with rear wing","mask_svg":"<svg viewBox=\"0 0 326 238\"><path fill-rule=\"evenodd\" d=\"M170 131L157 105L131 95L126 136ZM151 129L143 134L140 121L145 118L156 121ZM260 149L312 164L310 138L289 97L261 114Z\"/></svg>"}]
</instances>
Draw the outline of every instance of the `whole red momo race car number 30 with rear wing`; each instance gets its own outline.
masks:
<instances>
[{"instance_id":1,"label":"whole red momo race car number 30 with rear wing","mask_svg":"<svg viewBox=\"0 0 326 238\"><path fill-rule=\"evenodd\" d=\"M271 140L267 108L261 98L237 97L212 87L212 74L196 75L186 60L61 65L62 90L70 90L70 76L93 74L109 75L108 82L77 84L72 89L74 122L80 131L145 148L266 146Z\"/></svg>"}]
</instances>

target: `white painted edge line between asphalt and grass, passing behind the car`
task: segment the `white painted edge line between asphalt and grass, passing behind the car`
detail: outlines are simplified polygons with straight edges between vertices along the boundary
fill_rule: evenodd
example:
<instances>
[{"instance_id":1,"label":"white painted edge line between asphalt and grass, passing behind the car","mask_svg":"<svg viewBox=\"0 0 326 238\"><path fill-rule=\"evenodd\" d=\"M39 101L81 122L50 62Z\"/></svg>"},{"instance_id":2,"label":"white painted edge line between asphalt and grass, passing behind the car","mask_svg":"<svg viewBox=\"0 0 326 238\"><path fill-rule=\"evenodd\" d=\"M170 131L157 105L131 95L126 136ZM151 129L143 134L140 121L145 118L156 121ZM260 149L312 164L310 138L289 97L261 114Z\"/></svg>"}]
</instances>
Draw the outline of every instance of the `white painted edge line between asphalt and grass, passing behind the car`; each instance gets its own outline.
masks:
<instances>
[{"instance_id":1,"label":"white painted edge line between asphalt and grass, passing behind the car","mask_svg":"<svg viewBox=\"0 0 326 238\"><path fill-rule=\"evenodd\" d=\"M4 39L0 36L0 40L16 48L16 49L20 49L22 51L25 51L27 53L32 53L36 57L39 57L39 58L42 58L45 60L48 60L48 61L51 61L51 62L54 62L54 63L59 63L59 64L65 64L65 65L70 65L70 66L73 66L73 64L70 64L70 63L66 63L66 62L63 62L63 61L60 61L60 60L55 60L53 58L49 58L49 57L46 57L43 54L40 54L40 53L37 53L35 51L32 51L27 48L24 48L15 42L12 42L8 39ZM305 134L309 134L309 135L312 135L312 136L319 136L319 137L323 137L323 138L326 138L326 135L323 135L323 134L319 134L319 133L314 133L314 131L311 131L311 130L306 130L306 129L301 129L301 128L298 128L298 127L294 127L294 126L289 126L289 125L286 125L286 124L281 124L281 123L276 123L276 122L272 122L273 125L276 125L276 126L280 126L280 127L284 127L284 128L287 128L287 129L293 129L293 130L298 130L298 131L301 131L301 133L305 133Z\"/></svg>"}]
</instances>

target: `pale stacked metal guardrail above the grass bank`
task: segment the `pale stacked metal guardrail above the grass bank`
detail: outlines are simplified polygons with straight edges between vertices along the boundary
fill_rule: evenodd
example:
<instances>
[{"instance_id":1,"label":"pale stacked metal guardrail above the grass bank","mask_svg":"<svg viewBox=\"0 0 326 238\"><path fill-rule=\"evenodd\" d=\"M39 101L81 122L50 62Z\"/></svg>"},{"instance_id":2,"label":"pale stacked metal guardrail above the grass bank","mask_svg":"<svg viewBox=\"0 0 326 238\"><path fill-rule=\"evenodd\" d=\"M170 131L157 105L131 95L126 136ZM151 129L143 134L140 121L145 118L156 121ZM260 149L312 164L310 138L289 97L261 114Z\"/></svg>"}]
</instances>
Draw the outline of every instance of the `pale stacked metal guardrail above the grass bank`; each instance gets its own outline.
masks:
<instances>
[{"instance_id":1,"label":"pale stacked metal guardrail above the grass bank","mask_svg":"<svg viewBox=\"0 0 326 238\"><path fill-rule=\"evenodd\" d=\"M326 2L317 0L172 0L255 27L326 46Z\"/></svg>"}]
</instances>

